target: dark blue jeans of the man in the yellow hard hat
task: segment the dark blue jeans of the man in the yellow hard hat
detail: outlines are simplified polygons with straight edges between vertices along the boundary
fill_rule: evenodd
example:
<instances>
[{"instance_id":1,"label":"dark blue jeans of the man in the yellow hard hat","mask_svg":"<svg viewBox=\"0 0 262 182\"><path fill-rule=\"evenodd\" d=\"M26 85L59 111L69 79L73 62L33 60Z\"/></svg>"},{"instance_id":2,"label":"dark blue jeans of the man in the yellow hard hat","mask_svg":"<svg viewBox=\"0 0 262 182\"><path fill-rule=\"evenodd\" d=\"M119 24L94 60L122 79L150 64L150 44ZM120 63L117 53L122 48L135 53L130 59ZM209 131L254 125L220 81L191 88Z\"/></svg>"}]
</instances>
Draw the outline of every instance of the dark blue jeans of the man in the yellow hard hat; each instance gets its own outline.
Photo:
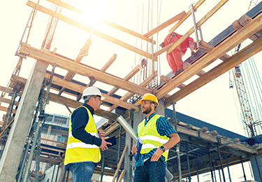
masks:
<instances>
[{"instance_id":1,"label":"dark blue jeans of the man in the yellow hard hat","mask_svg":"<svg viewBox=\"0 0 262 182\"><path fill-rule=\"evenodd\" d=\"M133 182L165 182L166 167L161 158L157 162L148 159L143 166L137 167Z\"/></svg>"}]
</instances>

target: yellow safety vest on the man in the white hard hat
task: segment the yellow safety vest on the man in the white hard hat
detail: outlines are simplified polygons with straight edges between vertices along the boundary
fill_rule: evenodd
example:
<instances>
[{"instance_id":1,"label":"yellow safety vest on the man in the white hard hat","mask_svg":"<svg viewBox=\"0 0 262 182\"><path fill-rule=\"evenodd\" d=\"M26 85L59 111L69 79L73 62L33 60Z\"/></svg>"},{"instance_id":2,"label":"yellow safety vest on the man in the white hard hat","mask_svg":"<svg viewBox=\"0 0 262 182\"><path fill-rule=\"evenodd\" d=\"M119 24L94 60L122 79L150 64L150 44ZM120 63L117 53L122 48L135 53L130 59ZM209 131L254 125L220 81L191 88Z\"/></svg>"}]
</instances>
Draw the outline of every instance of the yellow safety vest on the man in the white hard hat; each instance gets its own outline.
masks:
<instances>
[{"instance_id":1,"label":"yellow safety vest on the man in the white hard hat","mask_svg":"<svg viewBox=\"0 0 262 182\"><path fill-rule=\"evenodd\" d=\"M80 107L84 107L85 109L87 109L87 107L85 106L80 106ZM87 113L89 116L89 120L87 126L85 127L85 131L87 131L89 134L92 134L95 137L99 137L99 134L96 129L96 123L94 122L94 118L91 112L89 111L89 109L87 109ZM71 125L72 123L70 119L64 165L68 165L69 163L75 163L75 162L88 162L88 161L99 162L101 160L101 153L100 153L99 146L92 145L92 144L85 144L84 142L75 139L75 137L73 137L72 135Z\"/></svg>"}]
</instances>

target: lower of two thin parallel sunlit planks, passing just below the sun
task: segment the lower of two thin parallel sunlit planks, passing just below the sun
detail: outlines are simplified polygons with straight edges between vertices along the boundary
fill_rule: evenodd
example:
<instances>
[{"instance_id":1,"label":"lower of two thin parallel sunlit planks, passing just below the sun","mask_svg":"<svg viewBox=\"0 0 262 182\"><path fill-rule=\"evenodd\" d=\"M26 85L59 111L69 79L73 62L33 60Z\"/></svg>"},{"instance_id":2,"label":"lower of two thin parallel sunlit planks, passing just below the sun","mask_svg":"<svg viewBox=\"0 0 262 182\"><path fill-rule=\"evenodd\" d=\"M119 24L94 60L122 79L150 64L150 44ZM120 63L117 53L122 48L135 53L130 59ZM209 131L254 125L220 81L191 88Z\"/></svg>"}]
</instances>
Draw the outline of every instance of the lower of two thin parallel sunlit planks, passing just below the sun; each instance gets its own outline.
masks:
<instances>
[{"instance_id":1,"label":"lower of two thin parallel sunlit planks, passing just below the sun","mask_svg":"<svg viewBox=\"0 0 262 182\"><path fill-rule=\"evenodd\" d=\"M29 6L29 7L31 7L31 8L36 8L36 10L39 10L39 11L41 11L41 12L43 12L43 13L46 13L46 14L48 14L48 15L54 17L54 18L57 18L57 19L59 19L59 20L61 20L61 21L67 22L68 24L73 25L73 26L75 26L75 27L78 27L78 28L80 28L80 29L83 29L83 30L85 30L85 31L88 31L88 32L91 32L91 31L92 31L92 29L91 29L90 27L88 27L87 25L84 25L84 24L82 24L82 23L80 23L80 22L77 22L77 21L75 21L75 20L72 20L71 18L67 18L67 17L64 16L64 15L61 15L61 14L59 14L59 13L56 13L56 12L54 12L53 10L50 10L50 9L45 8L45 7L43 7L43 6L37 5L37 4L34 3L34 2L27 1L27 6ZM101 32L101 31L98 31L98 30L96 30L96 29L93 29L92 34L94 34L94 35L96 35L96 36L99 36L99 37L101 37L101 38L104 38L105 40L110 41L110 42L112 42L112 43L115 43L115 44L117 44L117 45L120 45L120 46L122 46L123 48L126 48L126 49L128 49L128 50L131 50L131 51L133 51L133 52L136 52L136 53L138 53L138 54L140 54L140 55L143 55L143 56L145 56L145 57L147 57L147 58L152 59L152 55L151 55L150 53L145 52L145 51L143 51L143 50L140 50L140 49L134 47L133 45L129 45L128 43L125 43L125 42L123 42L123 41L120 41L120 40L118 40L117 38L113 38L112 36L108 36L107 34L104 34L104 33ZM154 60L157 61L157 57L154 57Z\"/></svg>"}]
</instances>

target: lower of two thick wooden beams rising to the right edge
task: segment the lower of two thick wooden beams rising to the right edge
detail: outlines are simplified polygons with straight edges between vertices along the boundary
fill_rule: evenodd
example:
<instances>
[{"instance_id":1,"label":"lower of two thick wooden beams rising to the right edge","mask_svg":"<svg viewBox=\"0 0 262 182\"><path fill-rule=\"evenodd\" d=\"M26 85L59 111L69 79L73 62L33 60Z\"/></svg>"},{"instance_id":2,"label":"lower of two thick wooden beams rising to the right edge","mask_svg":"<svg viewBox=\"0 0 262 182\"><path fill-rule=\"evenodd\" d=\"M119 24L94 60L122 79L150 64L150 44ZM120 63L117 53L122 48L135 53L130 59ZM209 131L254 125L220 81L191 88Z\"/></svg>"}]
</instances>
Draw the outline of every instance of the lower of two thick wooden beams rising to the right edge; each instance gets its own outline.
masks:
<instances>
[{"instance_id":1,"label":"lower of two thick wooden beams rising to the right edge","mask_svg":"<svg viewBox=\"0 0 262 182\"><path fill-rule=\"evenodd\" d=\"M190 83L186 87L182 88L182 90L179 90L178 92L175 92L175 94L166 98L165 99L165 108L170 106L172 102L177 102L180 99L186 97L191 92L198 90L198 88L209 83L211 80L214 80L215 78L222 75L223 73L226 73L226 71L229 71L230 69L237 66L241 62L244 62L249 57L256 55L256 53L260 52L261 50L262 50L262 38L259 38L254 43L251 43L246 48L240 50L235 55L228 58L226 61L221 62L221 64L214 67L207 73L203 74L203 76L194 80L192 83Z\"/></svg>"}]
</instances>

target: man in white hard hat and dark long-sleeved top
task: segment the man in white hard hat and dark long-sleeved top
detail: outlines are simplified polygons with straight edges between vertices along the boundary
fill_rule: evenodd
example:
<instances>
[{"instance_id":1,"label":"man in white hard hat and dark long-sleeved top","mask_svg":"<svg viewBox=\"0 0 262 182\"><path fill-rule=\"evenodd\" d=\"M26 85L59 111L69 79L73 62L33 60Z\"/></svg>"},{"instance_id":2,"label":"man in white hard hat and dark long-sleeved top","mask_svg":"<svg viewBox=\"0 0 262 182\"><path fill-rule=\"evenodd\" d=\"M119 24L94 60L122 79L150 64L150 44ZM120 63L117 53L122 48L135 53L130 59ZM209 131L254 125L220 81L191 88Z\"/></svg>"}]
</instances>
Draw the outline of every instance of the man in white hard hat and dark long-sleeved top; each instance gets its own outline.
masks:
<instances>
[{"instance_id":1,"label":"man in white hard hat and dark long-sleeved top","mask_svg":"<svg viewBox=\"0 0 262 182\"><path fill-rule=\"evenodd\" d=\"M110 144L105 141L103 130L96 129L94 111L100 109L104 97L96 87L87 87L82 92L84 104L71 114L64 165L70 169L73 181L91 181L94 167L101 160L102 151Z\"/></svg>"}]
</instances>

